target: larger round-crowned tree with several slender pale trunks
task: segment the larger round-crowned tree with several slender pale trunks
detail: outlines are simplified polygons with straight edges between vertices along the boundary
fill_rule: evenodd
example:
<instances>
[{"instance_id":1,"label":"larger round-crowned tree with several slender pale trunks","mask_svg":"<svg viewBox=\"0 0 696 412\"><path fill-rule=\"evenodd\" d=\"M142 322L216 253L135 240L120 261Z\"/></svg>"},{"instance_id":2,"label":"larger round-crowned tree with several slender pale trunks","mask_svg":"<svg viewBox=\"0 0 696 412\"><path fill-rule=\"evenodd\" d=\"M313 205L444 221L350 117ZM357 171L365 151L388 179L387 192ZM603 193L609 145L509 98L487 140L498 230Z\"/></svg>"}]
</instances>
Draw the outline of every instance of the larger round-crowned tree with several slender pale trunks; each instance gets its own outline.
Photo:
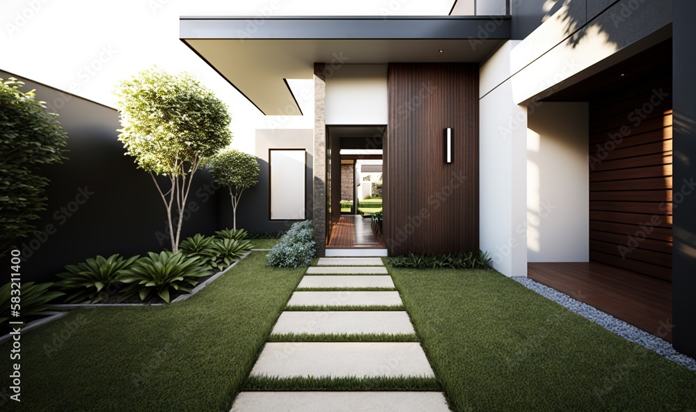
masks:
<instances>
[{"instance_id":1,"label":"larger round-crowned tree with several slender pale trunks","mask_svg":"<svg viewBox=\"0 0 696 412\"><path fill-rule=\"evenodd\" d=\"M122 81L116 95L122 126L118 139L155 182L176 252L193 175L203 159L232 140L227 106L191 75L157 68Z\"/></svg>"}]
</instances>

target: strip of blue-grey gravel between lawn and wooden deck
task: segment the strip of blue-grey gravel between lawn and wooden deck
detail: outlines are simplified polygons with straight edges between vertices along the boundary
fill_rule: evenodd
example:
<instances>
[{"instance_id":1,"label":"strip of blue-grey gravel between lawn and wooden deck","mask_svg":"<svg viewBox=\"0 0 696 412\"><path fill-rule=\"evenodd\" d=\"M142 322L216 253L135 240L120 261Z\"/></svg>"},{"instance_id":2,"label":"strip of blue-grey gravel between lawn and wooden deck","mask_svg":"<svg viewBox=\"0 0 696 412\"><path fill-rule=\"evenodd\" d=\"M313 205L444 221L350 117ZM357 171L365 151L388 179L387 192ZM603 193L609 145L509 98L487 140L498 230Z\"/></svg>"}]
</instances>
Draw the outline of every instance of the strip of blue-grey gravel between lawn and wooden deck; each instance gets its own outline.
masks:
<instances>
[{"instance_id":1,"label":"strip of blue-grey gravel between lawn and wooden deck","mask_svg":"<svg viewBox=\"0 0 696 412\"><path fill-rule=\"evenodd\" d=\"M662 340L655 335L651 335L646 331L642 331L633 325L627 324L612 315L608 315L599 309L587 305L587 303L576 301L576 299L571 298L567 294L562 294L551 287L541 285L541 283L535 282L530 278L513 276L512 279L521 283L528 289L537 292L541 296L551 299L559 305L576 312L578 315L591 320L608 331L616 333L626 340L640 344L642 347L655 351L670 361L679 363L679 365L686 366L688 369L696 372L696 360L674 350L670 342Z\"/></svg>"}]
</instances>

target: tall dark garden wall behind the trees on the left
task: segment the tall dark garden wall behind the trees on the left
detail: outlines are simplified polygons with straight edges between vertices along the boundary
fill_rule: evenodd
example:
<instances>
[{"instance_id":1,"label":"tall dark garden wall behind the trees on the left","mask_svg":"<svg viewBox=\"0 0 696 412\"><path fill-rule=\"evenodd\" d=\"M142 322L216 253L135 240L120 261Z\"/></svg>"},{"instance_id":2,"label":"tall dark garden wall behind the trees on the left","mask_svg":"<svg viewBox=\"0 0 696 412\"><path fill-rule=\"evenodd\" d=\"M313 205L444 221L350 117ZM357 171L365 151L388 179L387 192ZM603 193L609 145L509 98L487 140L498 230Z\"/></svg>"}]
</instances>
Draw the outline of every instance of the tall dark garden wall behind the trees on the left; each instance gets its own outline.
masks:
<instances>
[{"instance_id":1,"label":"tall dark garden wall behind the trees on the left","mask_svg":"<svg viewBox=\"0 0 696 412\"><path fill-rule=\"evenodd\" d=\"M38 99L60 115L69 136L69 160L42 171L51 180L47 209L35 221L39 231L20 241L26 259L22 278L56 280L53 275L65 264L96 255L169 248L164 205L150 176L124 155L117 111L7 72L0 71L0 77L24 81L23 90L36 89ZM219 229L218 196L204 188L209 181L207 172L195 179L184 237Z\"/></svg>"}]
</instances>

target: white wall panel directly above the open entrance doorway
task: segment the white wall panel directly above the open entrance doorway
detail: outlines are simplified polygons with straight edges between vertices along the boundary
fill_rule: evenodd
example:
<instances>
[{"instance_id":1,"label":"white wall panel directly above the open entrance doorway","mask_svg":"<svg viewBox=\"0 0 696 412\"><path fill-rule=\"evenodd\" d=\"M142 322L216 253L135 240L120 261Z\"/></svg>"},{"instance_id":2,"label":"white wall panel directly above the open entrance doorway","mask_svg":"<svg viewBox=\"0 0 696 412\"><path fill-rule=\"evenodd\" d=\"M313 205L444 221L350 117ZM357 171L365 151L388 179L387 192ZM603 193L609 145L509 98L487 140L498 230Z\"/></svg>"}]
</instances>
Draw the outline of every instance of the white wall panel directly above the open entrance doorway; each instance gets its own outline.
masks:
<instances>
[{"instance_id":1,"label":"white wall panel directly above the open entrance doorway","mask_svg":"<svg viewBox=\"0 0 696 412\"><path fill-rule=\"evenodd\" d=\"M326 78L326 125L386 125L387 65L342 65Z\"/></svg>"}]
</instances>

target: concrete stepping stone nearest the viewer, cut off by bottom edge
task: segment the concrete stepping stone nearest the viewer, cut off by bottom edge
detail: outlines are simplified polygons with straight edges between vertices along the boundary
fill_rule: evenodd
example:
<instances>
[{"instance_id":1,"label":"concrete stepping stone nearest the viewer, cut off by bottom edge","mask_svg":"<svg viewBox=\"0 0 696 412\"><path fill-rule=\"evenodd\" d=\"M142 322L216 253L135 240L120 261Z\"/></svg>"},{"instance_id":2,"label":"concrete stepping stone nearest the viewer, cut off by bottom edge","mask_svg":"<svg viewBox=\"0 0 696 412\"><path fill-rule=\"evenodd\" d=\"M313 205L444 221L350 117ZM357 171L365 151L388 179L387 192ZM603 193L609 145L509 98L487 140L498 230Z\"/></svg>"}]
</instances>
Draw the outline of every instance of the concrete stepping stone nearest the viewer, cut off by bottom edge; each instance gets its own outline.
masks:
<instances>
[{"instance_id":1,"label":"concrete stepping stone nearest the viewer, cut off by bottom edge","mask_svg":"<svg viewBox=\"0 0 696 412\"><path fill-rule=\"evenodd\" d=\"M242 392L230 412L449 412L440 392Z\"/></svg>"}]
</instances>

